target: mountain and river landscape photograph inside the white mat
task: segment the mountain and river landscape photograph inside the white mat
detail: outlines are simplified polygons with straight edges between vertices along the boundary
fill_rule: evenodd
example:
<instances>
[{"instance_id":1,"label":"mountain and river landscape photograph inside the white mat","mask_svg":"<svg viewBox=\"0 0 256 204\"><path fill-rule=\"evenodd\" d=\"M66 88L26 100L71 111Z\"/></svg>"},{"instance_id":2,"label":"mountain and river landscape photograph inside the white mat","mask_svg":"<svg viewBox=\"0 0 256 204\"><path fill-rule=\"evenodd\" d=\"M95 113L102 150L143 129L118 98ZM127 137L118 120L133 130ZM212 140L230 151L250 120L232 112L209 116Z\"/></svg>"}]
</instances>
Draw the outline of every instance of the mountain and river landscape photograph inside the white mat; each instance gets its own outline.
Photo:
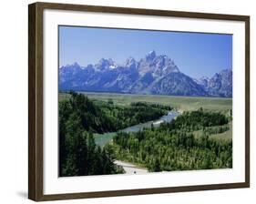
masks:
<instances>
[{"instance_id":1,"label":"mountain and river landscape photograph inside the white mat","mask_svg":"<svg viewBox=\"0 0 256 204\"><path fill-rule=\"evenodd\" d=\"M59 177L232 168L232 35L58 26Z\"/></svg>"}]
</instances>

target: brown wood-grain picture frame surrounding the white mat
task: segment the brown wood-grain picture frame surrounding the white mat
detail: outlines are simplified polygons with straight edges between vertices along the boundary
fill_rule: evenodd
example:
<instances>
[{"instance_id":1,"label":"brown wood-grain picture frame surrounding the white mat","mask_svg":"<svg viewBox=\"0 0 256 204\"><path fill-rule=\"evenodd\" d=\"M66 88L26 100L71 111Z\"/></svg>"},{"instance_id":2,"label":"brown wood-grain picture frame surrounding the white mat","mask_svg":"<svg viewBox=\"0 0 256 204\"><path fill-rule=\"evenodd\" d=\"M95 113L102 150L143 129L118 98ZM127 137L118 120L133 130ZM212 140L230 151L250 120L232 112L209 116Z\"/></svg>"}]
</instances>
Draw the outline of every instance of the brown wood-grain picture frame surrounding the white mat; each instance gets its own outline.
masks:
<instances>
[{"instance_id":1,"label":"brown wood-grain picture frame surrounding the white mat","mask_svg":"<svg viewBox=\"0 0 256 204\"><path fill-rule=\"evenodd\" d=\"M43 185L43 11L59 9L128 15L161 15L245 22L245 182L157 189L128 189L44 195ZM207 189L250 187L250 16L219 15L167 10L35 3L28 5L28 198L35 201L128 196Z\"/></svg>"}]
</instances>

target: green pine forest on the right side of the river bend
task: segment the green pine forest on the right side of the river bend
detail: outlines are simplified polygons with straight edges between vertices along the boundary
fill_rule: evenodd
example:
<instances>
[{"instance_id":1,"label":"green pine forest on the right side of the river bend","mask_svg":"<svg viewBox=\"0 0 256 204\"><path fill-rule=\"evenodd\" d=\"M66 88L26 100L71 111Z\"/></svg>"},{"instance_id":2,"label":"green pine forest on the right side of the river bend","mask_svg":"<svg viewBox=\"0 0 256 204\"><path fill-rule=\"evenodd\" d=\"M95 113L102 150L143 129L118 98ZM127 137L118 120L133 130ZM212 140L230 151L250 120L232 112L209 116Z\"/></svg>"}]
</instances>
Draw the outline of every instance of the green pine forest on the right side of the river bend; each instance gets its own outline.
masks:
<instances>
[{"instance_id":1,"label":"green pine forest on the right side of the river bend","mask_svg":"<svg viewBox=\"0 0 256 204\"><path fill-rule=\"evenodd\" d=\"M149 171L232 168L232 142L210 139L229 129L229 118L215 112L185 112L159 128L114 137L117 158ZM193 132L202 130L199 138Z\"/></svg>"}]
</instances>

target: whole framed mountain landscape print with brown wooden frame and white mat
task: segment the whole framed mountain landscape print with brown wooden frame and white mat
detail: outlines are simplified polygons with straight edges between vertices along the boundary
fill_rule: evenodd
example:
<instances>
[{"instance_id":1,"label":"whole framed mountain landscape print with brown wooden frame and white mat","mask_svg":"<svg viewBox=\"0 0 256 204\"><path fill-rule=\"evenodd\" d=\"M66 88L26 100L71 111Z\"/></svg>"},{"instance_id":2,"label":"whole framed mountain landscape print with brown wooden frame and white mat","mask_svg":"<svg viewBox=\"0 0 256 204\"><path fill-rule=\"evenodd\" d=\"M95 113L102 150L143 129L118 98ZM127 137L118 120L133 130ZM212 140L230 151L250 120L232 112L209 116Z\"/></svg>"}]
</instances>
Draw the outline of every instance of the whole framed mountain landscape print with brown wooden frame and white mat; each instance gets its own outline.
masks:
<instances>
[{"instance_id":1,"label":"whole framed mountain landscape print with brown wooden frame and white mat","mask_svg":"<svg viewBox=\"0 0 256 204\"><path fill-rule=\"evenodd\" d=\"M29 199L250 186L250 17L29 5Z\"/></svg>"}]
</instances>

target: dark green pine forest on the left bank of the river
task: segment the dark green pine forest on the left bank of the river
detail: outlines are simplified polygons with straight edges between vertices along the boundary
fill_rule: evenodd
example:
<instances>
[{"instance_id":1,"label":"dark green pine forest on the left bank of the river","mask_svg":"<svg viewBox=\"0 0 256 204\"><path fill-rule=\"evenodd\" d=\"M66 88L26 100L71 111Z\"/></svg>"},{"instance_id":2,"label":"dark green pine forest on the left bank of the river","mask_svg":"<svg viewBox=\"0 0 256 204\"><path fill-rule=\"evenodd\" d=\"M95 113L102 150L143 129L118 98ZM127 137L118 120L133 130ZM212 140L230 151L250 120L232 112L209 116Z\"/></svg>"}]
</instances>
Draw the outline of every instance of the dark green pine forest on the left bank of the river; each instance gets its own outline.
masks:
<instances>
[{"instance_id":1,"label":"dark green pine forest on the left bank of the river","mask_svg":"<svg viewBox=\"0 0 256 204\"><path fill-rule=\"evenodd\" d=\"M59 175L82 176L123 173L114 164L111 148L99 148L93 133L117 131L165 115L170 107L132 103L121 107L113 101L94 102L70 92L59 102Z\"/></svg>"}]
</instances>

